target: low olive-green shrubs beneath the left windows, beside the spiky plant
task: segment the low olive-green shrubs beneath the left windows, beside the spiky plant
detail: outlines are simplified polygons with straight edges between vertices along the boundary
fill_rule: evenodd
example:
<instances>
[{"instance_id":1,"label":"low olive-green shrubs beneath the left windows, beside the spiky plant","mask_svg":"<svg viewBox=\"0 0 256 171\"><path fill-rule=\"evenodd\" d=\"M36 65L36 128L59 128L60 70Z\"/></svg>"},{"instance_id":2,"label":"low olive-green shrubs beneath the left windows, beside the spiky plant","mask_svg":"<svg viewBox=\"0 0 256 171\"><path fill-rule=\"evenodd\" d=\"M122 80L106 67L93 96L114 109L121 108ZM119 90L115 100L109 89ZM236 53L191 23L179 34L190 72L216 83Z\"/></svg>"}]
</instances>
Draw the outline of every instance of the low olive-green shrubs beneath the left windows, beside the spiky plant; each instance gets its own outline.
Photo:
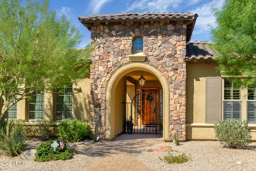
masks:
<instances>
[{"instance_id":1,"label":"low olive-green shrubs beneath the left windows, beside the spiky plant","mask_svg":"<svg viewBox=\"0 0 256 171\"><path fill-rule=\"evenodd\" d=\"M57 136L57 124L51 120L15 120L15 127L28 137L39 137L41 140L49 140L50 136Z\"/></svg>"}]
</instances>

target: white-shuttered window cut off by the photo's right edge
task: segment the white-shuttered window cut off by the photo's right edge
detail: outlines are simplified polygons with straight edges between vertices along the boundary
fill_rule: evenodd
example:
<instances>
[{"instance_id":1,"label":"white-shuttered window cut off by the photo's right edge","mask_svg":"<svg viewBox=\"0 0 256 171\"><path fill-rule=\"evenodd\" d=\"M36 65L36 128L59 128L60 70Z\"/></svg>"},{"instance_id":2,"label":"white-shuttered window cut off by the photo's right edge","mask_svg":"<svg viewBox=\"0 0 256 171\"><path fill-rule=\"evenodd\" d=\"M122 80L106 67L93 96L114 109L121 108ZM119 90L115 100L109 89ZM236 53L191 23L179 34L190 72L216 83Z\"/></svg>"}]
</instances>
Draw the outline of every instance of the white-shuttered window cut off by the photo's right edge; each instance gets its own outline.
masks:
<instances>
[{"instance_id":1,"label":"white-shuttered window cut off by the photo's right edge","mask_svg":"<svg viewBox=\"0 0 256 171\"><path fill-rule=\"evenodd\" d=\"M247 121L256 123L256 88L247 88Z\"/></svg>"}]
</instances>

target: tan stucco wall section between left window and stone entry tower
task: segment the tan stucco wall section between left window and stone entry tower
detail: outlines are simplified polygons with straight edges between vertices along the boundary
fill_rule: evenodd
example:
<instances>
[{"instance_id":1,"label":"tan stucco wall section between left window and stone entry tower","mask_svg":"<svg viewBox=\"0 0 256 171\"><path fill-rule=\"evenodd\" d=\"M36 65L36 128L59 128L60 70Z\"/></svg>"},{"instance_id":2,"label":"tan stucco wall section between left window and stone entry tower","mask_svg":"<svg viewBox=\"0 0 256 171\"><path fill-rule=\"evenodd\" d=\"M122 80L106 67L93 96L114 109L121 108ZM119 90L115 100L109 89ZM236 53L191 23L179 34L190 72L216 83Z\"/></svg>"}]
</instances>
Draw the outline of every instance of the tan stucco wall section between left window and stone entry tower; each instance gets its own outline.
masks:
<instances>
[{"instance_id":1,"label":"tan stucco wall section between left window and stone entry tower","mask_svg":"<svg viewBox=\"0 0 256 171\"><path fill-rule=\"evenodd\" d=\"M81 90L77 93L73 91L73 118L79 120L87 120L90 118L90 86L89 78L77 80L76 86L80 86Z\"/></svg>"}]
</instances>

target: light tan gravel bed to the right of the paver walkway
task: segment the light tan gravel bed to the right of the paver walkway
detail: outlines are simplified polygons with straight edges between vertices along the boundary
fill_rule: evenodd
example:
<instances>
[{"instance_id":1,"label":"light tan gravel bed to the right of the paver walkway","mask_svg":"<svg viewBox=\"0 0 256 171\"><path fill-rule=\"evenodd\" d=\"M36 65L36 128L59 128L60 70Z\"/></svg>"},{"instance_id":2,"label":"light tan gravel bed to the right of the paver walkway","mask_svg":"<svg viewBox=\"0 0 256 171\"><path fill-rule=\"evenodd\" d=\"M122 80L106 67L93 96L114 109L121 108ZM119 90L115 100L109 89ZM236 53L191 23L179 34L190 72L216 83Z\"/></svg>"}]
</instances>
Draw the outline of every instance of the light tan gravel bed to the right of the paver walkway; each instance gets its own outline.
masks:
<instances>
[{"instance_id":1,"label":"light tan gravel bed to the right of the paver walkway","mask_svg":"<svg viewBox=\"0 0 256 171\"><path fill-rule=\"evenodd\" d=\"M172 146L172 153L184 152L191 159L183 164L167 164L161 161L167 152L151 152L150 149L159 149L161 146ZM167 170L256 170L256 143L251 143L246 149L224 148L217 141L188 141L179 146L173 143L157 143L139 149L140 153L133 156L157 171ZM175 152L178 151L178 152Z\"/></svg>"}]
</instances>

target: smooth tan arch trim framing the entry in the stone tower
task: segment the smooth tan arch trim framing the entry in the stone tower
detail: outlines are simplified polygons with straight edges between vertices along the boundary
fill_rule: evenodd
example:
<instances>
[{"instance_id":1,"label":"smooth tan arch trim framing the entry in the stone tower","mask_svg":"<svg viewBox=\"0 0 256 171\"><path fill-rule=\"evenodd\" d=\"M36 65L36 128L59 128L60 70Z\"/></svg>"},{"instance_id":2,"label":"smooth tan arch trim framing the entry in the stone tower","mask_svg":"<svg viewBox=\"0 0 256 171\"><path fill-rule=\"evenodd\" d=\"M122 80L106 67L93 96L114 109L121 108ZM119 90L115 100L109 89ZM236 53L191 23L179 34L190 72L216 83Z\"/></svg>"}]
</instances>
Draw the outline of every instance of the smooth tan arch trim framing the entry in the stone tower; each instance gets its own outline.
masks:
<instances>
[{"instance_id":1,"label":"smooth tan arch trim framing the entry in the stone tower","mask_svg":"<svg viewBox=\"0 0 256 171\"><path fill-rule=\"evenodd\" d=\"M110 77L106 87L106 139L115 137L115 88L121 78L135 70L147 71L156 76L163 87L163 139L169 140L169 86L163 74L155 67L146 63L129 63L117 69Z\"/></svg>"}]
</instances>

